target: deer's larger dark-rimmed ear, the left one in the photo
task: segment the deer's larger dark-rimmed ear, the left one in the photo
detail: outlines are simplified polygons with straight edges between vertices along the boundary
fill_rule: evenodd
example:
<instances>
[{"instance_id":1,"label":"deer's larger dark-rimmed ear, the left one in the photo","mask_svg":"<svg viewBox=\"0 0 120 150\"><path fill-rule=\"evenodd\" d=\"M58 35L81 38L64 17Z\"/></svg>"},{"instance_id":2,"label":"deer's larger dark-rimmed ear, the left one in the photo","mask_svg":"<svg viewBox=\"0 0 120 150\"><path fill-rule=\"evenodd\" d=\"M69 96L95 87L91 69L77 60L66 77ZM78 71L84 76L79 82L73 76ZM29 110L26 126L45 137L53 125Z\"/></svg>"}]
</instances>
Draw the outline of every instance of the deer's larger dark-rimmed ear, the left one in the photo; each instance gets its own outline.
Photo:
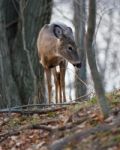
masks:
<instances>
[{"instance_id":1,"label":"deer's larger dark-rimmed ear, the left one in the photo","mask_svg":"<svg viewBox=\"0 0 120 150\"><path fill-rule=\"evenodd\" d=\"M57 38L61 38L63 35L63 30L59 25L54 25L53 33Z\"/></svg>"}]
</instances>

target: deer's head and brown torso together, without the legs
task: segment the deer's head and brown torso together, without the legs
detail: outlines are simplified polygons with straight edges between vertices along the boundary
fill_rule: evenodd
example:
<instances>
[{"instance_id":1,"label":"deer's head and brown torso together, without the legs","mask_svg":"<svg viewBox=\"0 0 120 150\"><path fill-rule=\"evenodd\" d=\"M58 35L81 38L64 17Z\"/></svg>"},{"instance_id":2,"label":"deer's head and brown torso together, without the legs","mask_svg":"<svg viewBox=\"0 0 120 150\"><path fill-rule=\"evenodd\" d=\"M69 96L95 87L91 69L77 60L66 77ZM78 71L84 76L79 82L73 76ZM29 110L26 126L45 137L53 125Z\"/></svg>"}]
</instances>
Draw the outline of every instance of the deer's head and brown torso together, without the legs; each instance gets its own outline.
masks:
<instances>
[{"instance_id":1,"label":"deer's head and brown torso together, without the legs","mask_svg":"<svg viewBox=\"0 0 120 150\"><path fill-rule=\"evenodd\" d=\"M55 67L63 60L81 67L72 29L65 24L45 25L38 36L37 47L45 68Z\"/></svg>"}]
</instances>

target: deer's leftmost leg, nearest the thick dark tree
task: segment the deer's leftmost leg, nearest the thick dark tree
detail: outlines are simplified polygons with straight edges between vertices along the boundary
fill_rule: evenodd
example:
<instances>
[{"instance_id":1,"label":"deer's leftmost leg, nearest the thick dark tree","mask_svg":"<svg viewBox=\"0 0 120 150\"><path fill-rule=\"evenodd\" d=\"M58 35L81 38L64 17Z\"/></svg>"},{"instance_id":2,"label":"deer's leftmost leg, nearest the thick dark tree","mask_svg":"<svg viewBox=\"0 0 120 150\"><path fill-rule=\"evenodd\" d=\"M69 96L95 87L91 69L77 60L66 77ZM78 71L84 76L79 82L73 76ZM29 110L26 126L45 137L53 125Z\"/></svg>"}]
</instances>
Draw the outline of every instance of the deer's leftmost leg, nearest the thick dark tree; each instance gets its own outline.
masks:
<instances>
[{"instance_id":1,"label":"deer's leftmost leg, nearest the thick dark tree","mask_svg":"<svg viewBox=\"0 0 120 150\"><path fill-rule=\"evenodd\" d=\"M52 83L51 83L51 69L45 69L46 79L47 79L47 88L48 88L48 101L51 103L52 95Z\"/></svg>"}]
</instances>

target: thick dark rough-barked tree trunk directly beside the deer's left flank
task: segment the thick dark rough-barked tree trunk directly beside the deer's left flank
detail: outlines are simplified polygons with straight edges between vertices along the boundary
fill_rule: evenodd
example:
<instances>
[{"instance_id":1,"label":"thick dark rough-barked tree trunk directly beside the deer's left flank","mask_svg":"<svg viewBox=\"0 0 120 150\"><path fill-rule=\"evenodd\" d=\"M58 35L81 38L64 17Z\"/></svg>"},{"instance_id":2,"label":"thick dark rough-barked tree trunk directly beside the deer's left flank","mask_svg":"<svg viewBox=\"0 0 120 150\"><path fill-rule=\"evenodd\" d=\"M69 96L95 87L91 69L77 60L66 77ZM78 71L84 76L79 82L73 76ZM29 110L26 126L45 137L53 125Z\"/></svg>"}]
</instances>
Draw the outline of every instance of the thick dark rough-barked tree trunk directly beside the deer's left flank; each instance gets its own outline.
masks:
<instances>
[{"instance_id":1,"label":"thick dark rough-barked tree trunk directly beside the deer's left flank","mask_svg":"<svg viewBox=\"0 0 120 150\"><path fill-rule=\"evenodd\" d=\"M12 58L14 62L14 77L18 84L23 104L27 104L28 100L33 100L34 97L33 85L35 79L31 74L30 67L33 68L36 76L40 102L44 102L45 100L44 72L42 66L39 65L36 39L41 27L50 21L51 6L51 0L42 0L39 2L37 0L29 0L28 4L24 6L25 42L28 51L24 49L22 22L19 23L19 30L13 48L14 53ZM30 60L27 57L27 52L29 53ZM31 62L32 66L30 66L29 62Z\"/></svg>"}]
</instances>

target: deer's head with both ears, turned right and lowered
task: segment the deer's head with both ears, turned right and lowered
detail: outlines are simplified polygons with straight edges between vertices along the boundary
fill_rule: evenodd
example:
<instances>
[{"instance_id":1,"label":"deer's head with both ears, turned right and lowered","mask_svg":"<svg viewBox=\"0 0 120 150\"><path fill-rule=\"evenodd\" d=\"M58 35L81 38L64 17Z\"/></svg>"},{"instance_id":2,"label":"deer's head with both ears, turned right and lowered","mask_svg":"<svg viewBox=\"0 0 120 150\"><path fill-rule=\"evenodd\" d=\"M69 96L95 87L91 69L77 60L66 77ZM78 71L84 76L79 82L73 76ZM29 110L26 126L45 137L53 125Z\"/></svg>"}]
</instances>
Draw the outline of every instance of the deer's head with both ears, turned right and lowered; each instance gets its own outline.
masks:
<instances>
[{"instance_id":1,"label":"deer's head with both ears, turned right and lowered","mask_svg":"<svg viewBox=\"0 0 120 150\"><path fill-rule=\"evenodd\" d=\"M81 67L73 32L65 25L53 25L53 33L57 38L57 54L76 67Z\"/></svg>"}]
</instances>

